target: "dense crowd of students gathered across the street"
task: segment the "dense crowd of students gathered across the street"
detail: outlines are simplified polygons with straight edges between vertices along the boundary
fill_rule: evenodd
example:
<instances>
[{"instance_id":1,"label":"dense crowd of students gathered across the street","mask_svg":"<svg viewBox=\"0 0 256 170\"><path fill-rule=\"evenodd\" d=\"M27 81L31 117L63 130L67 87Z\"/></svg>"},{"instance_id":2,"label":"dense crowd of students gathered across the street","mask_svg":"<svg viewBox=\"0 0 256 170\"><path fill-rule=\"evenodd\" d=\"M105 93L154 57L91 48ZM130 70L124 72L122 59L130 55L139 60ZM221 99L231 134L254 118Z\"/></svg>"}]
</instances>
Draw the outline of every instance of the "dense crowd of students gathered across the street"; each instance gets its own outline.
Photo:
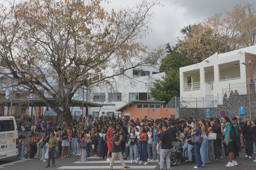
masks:
<instances>
[{"instance_id":1,"label":"dense crowd of students gathered across the street","mask_svg":"<svg viewBox=\"0 0 256 170\"><path fill-rule=\"evenodd\" d=\"M128 168L123 159L131 163L148 164L158 162L160 170L166 160L170 169L170 153L177 140L184 140L183 163L192 164L192 150L195 156L195 168L199 169L212 162L212 157L229 159L226 167L236 166L239 151L244 148L246 158L252 159L256 153L256 121L242 123L234 117L235 126L228 117L193 119L93 119L87 116L82 121L62 122L55 128L47 127L41 122L41 130L46 132L32 133L29 140L30 159L40 158L49 167L55 166L55 157L65 159L70 150L72 156L79 156L79 161L86 162L91 156L98 156L110 162L118 158L123 167ZM55 121L56 122L56 121ZM41 131L39 130L39 131ZM208 140L210 133L216 133L214 140ZM192 136L203 136L201 143L194 143ZM224 150L223 147L224 146ZM92 151L93 150L93 151ZM222 150L224 155L222 155ZM25 136L20 136L19 156L24 159L26 153ZM187 159L186 159L187 158ZM256 159L254 160L256 162Z\"/></svg>"}]
</instances>

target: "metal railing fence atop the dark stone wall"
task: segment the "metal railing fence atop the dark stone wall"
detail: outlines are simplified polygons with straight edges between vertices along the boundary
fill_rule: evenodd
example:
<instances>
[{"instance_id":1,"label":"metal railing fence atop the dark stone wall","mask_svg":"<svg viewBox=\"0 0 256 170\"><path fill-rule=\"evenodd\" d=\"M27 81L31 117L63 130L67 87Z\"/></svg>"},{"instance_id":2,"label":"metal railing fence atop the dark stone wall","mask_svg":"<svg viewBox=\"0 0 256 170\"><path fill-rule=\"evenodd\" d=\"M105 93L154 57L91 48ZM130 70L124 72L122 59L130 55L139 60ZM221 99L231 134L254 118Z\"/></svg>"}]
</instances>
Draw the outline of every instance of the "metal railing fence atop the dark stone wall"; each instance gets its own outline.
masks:
<instances>
[{"instance_id":1,"label":"metal railing fence atop the dark stone wall","mask_svg":"<svg viewBox=\"0 0 256 170\"><path fill-rule=\"evenodd\" d=\"M228 88L222 88L217 95L206 95L204 97L180 96L173 97L166 105L167 108L216 108L223 105L224 100L230 96L256 94L256 80L249 79L248 82L230 83Z\"/></svg>"}]
</instances>

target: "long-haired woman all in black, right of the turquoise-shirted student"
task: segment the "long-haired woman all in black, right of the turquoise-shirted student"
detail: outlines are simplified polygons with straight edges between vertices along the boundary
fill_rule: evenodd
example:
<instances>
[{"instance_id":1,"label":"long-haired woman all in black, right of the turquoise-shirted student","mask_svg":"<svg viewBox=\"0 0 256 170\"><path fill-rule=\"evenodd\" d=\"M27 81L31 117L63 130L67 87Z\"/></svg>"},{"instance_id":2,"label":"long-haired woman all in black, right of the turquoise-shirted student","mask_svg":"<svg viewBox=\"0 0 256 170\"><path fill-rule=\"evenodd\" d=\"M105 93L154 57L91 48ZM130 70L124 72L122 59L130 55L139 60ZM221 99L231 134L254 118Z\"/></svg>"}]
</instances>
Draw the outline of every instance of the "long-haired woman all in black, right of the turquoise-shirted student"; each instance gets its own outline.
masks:
<instances>
[{"instance_id":1,"label":"long-haired woman all in black, right of the turquoise-shirted student","mask_svg":"<svg viewBox=\"0 0 256 170\"><path fill-rule=\"evenodd\" d=\"M245 158L252 159L253 154L253 132L252 127L250 124L250 121L247 121L244 123L244 126L242 128L242 133L244 135L245 139Z\"/></svg>"}]
</instances>

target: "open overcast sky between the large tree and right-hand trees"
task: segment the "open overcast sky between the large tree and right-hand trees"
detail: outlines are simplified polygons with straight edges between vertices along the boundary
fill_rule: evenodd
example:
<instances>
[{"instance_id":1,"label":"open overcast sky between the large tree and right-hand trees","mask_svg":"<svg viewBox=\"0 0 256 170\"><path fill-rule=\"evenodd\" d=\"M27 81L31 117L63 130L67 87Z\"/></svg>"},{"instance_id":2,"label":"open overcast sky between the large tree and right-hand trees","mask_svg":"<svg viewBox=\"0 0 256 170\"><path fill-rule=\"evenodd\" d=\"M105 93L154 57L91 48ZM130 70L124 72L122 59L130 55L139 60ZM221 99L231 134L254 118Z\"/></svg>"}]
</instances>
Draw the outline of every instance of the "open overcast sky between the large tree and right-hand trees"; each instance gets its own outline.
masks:
<instances>
[{"instance_id":1,"label":"open overcast sky between the large tree and right-hand trees","mask_svg":"<svg viewBox=\"0 0 256 170\"><path fill-rule=\"evenodd\" d=\"M106 9L118 10L121 6L134 6L140 0L111 0ZM170 43L175 45L181 37L180 29L196 21L211 17L216 13L225 13L240 3L250 3L256 7L256 0L160 0L163 6L154 7L150 34L144 42L150 48Z\"/></svg>"}]
</instances>

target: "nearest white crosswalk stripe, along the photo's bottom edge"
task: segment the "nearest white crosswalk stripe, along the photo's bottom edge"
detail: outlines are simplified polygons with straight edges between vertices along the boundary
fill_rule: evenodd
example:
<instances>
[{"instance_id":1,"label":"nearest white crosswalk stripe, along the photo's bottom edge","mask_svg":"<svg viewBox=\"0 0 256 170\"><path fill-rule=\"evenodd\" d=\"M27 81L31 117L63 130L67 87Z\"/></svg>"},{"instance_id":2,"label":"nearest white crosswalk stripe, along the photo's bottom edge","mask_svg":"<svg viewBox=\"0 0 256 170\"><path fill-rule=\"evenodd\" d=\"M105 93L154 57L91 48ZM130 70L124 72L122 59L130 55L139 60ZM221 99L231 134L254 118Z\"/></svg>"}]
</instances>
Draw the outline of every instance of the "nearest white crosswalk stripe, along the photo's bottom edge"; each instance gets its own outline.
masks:
<instances>
[{"instance_id":1,"label":"nearest white crosswalk stripe, along the photo's bottom edge","mask_svg":"<svg viewBox=\"0 0 256 170\"><path fill-rule=\"evenodd\" d=\"M129 169L154 169L157 166L131 166ZM63 166L58 169L109 169L109 166ZM124 169L122 166L113 166L113 169Z\"/></svg>"}]
</instances>

